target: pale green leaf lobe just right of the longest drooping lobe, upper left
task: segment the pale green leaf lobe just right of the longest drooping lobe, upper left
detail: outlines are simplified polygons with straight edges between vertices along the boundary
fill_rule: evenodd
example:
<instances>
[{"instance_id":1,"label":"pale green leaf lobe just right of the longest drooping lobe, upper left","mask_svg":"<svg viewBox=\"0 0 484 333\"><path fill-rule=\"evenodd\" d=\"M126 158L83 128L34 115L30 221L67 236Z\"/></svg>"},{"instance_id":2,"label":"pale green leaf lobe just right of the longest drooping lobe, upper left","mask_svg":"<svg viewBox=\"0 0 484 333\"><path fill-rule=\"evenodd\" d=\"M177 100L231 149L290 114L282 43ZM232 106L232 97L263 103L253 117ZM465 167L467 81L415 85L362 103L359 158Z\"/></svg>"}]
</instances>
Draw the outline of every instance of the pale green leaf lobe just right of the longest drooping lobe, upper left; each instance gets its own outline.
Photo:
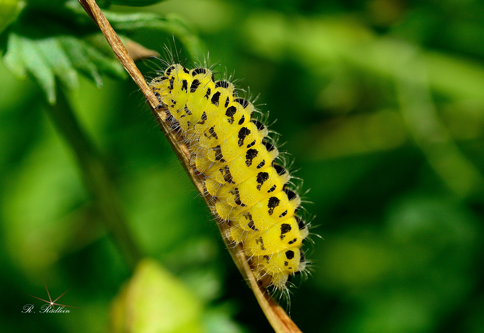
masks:
<instances>
[{"instance_id":1,"label":"pale green leaf lobe just right of the longest drooping lobe, upper left","mask_svg":"<svg viewBox=\"0 0 484 333\"><path fill-rule=\"evenodd\" d=\"M79 85L77 72L65 54L59 40L47 38L38 41L37 46L62 84L71 90L77 89Z\"/></svg>"}]
</instances>

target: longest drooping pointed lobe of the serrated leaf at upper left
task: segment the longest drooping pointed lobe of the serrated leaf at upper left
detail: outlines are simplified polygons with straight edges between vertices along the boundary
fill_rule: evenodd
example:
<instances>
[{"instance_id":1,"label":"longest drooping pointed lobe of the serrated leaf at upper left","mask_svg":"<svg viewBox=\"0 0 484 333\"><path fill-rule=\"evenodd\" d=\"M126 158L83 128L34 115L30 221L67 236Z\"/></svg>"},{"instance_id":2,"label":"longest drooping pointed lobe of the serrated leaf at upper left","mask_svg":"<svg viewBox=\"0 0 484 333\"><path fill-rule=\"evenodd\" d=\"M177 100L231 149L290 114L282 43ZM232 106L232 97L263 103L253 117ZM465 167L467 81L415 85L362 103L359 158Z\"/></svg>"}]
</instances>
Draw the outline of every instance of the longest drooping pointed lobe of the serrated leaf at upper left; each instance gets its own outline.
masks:
<instances>
[{"instance_id":1,"label":"longest drooping pointed lobe of the serrated leaf at upper left","mask_svg":"<svg viewBox=\"0 0 484 333\"><path fill-rule=\"evenodd\" d=\"M29 72L37 79L50 104L56 103L56 80L54 71L39 49L37 43L25 37L20 37L22 59Z\"/></svg>"}]
</instances>

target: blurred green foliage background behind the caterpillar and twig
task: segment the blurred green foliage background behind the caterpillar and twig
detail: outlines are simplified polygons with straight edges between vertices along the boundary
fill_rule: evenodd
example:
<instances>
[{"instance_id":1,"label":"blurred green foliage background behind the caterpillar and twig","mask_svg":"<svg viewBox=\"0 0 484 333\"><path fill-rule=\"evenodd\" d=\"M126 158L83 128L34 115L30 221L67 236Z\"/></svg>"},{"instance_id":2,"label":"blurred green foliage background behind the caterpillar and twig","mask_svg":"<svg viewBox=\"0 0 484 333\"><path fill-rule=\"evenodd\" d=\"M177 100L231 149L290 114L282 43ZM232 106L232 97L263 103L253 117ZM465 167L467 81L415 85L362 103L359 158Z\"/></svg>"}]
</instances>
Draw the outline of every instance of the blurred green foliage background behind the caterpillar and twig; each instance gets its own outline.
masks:
<instances>
[{"instance_id":1,"label":"blurred green foliage background behind the caterpillar and twig","mask_svg":"<svg viewBox=\"0 0 484 333\"><path fill-rule=\"evenodd\" d=\"M18 1L1 0L15 7L0 13L3 54L12 32L96 45L86 35L96 28L67 19L64 2L24 2L8 26ZM124 34L160 53L173 34L181 57L210 51L220 76L235 71L277 119L323 238L306 243L313 276L292 289L303 332L484 332L483 1L98 2L182 22ZM0 330L271 332L131 79L103 75L98 88L81 75L67 97L107 161L129 234L156 260L133 278L46 112L52 86L29 66L33 76L16 78L9 59L0 63ZM42 276L54 297L73 287L59 302L78 308L21 313L42 305L24 293L47 297Z\"/></svg>"}]
</instances>

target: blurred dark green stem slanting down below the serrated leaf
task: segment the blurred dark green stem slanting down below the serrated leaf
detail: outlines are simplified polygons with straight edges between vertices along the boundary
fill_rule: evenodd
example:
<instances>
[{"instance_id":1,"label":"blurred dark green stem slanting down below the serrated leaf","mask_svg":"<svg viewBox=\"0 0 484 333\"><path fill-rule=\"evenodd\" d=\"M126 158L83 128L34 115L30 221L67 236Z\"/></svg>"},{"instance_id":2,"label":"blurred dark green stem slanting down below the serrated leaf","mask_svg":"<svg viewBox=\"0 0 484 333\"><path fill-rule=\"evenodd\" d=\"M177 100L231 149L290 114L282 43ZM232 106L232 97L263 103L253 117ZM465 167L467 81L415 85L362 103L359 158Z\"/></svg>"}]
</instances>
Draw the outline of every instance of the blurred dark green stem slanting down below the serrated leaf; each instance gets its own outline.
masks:
<instances>
[{"instance_id":1,"label":"blurred dark green stem slanting down below the serrated leaf","mask_svg":"<svg viewBox=\"0 0 484 333\"><path fill-rule=\"evenodd\" d=\"M111 180L109 168L94 144L86 136L69 105L64 92L57 90L56 105L46 106L47 113L57 130L76 154L82 178L93 197L95 211L121 251L130 270L141 258L131 238L127 220L122 212L119 194Z\"/></svg>"}]
</instances>

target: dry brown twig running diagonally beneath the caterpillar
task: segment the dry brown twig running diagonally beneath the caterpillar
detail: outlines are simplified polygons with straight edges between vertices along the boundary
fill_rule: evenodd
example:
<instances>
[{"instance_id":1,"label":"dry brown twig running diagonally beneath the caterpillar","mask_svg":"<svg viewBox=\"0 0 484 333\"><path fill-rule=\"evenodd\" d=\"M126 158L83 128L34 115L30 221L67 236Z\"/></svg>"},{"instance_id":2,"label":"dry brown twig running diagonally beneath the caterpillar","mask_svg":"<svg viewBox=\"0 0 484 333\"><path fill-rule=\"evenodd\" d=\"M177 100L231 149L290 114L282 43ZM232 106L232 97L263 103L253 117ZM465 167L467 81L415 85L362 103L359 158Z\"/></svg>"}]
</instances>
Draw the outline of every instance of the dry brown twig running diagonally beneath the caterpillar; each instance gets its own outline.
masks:
<instances>
[{"instance_id":1,"label":"dry brown twig running diagonally beneath the caterpillar","mask_svg":"<svg viewBox=\"0 0 484 333\"><path fill-rule=\"evenodd\" d=\"M106 20L106 17L103 15L94 0L79 0L79 3L88 13L88 15L91 16L92 20L97 24L99 29L101 29L104 36L106 37L107 42L113 49L119 61L140 88L141 92L143 93L148 104L151 107L153 115L158 121L158 125L160 126L163 133L165 133L166 139L173 148L173 151L175 151L181 162L181 165L187 172L198 192L200 194L204 193L204 182L202 178L196 174L195 167L190 164L190 151L188 151L187 147L180 142L180 139L176 136L176 134L170 131L169 125L166 122L165 110L158 107L158 99L154 96L151 89L146 84L143 75L136 67L133 59L129 56L126 47L124 47L124 45L121 43L120 38L113 30L109 22ZM209 202L208 197L202 197L207 204L207 207L213 206ZM220 233L222 234L224 242L226 243L226 245L228 245L230 241L227 239L227 223L220 220L214 208L211 208L211 212L218 222L217 225L219 227ZM264 288L259 287L259 285L257 284L257 280L252 272L252 269L247 262L247 258L242 251L241 245L235 247L227 246L227 249L229 250L232 258L234 259L235 264L239 268L239 271L242 273L242 276L246 279L250 288L254 292L257 302L259 303L262 311L271 323L274 331L276 333L302 333L301 330L299 330L299 328L296 326L296 324L291 320L291 318L287 316L286 312L281 308L281 306L278 305L268 295L267 291Z\"/></svg>"}]
</instances>

